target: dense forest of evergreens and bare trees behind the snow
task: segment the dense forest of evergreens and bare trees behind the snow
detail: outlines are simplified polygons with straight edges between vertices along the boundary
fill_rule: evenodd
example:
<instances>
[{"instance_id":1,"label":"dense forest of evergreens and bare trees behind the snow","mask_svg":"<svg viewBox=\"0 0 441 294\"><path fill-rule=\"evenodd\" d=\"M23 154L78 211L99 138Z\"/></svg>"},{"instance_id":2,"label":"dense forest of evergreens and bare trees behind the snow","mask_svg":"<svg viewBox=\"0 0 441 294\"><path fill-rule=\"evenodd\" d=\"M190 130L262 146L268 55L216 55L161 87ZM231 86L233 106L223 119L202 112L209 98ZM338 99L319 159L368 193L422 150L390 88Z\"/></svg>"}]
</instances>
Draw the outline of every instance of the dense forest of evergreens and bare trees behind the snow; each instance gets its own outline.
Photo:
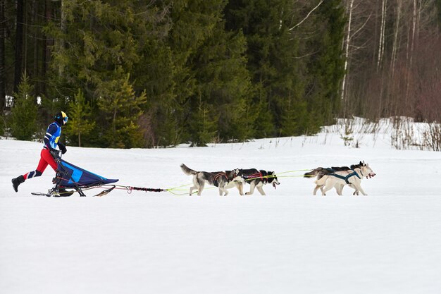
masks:
<instances>
[{"instance_id":1,"label":"dense forest of evergreens and bare trees behind the snow","mask_svg":"<svg viewBox=\"0 0 441 294\"><path fill-rule=\"evenodd\" d=\"M441 122L441 0L0 0L0 133L169 147Z\"/></svg>"}]
</instances>

